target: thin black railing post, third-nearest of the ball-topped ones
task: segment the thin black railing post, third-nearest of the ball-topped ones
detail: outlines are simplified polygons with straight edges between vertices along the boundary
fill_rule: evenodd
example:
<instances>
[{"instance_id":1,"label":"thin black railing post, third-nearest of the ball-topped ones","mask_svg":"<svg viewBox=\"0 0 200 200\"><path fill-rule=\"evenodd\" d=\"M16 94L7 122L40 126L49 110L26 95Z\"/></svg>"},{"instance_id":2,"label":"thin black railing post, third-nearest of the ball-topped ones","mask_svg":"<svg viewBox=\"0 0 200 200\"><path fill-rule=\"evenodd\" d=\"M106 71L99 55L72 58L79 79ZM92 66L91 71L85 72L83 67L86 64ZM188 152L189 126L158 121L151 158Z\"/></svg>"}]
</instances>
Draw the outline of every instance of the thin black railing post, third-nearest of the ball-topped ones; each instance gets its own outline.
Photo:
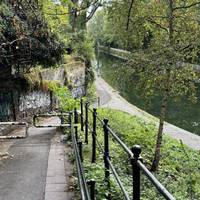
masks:
<instances>
[{"instance_id":1,"label":"thin black railing post, third-nearest of the ball-topped ones","mask_svg":"<svg viewBox=\"0 0 200 200\"><path fill-rule=\"evenodd\" d=\"M97 127L97 109L93 108L93 130L92 130L92 163L96 161L96 127Z\"/></svg>"}]
</instances>

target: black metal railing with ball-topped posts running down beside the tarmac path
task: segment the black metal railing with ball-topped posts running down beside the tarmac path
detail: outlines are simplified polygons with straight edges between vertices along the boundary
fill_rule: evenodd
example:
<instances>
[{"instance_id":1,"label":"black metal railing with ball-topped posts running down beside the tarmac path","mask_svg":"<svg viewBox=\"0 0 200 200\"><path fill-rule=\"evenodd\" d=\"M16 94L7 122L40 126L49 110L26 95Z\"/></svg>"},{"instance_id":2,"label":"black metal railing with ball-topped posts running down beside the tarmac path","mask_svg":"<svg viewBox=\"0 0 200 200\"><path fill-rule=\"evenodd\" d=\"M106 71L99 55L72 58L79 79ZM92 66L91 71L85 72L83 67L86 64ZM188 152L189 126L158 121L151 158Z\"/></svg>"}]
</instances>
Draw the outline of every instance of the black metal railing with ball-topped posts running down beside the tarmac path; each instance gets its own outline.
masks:
<instances>
[{"instance_id":1,"label":"black metal railing with ball-topped posts running down beside the tarmac path","mask_svg":"<svg viewBox=\"0 0 200 200\"><path fill-rule=\"evenodd\" d=\"M107 186L108 191L110 190L110 173L114 176L118 186L121 189L121 192L126 200L140 200L140 174L141 172L150 180L150 182L157 188L158 192L167 200L174 200L175 198L167 191L167 189L153 176L153 174L146 168L146 166L142 162L141 147L139 145L133 146L131 149L127 147L127 145L117 136L117 134L109 127L108 119L101 119L97 114L96 108L89 108L89 103L86 102L84 105L83 100L80 101L81 113L80 113L80 123L81 130L84 131L84 142L88 144L88 136L91 133L92 138L92 158L91 162L96 162L96 151L97 148L99 152L103 154L104 157L104 170L105 170L105 184ZM85 108L85 112L84 112ZM89 123L89 113L92 114L92 123ZM97 121L101 123L104 133L104 144L102 145L98 141L97 137ZM77 169L78 169L78 177L79 177L79 185L81 190L82 199L95 199L95 181L90 181L90 189L88 189L87 181L84 177L83 170L83 153L82 153L82 141L79 140L78 135L78 112L74 110L74 124L71 124L72 130L72 141L74 146L74 152L76 157ZM124 187L114 164L110 159L110 145L109 145L109 137L112 137L113 141L116 141L121 148L127 153L130 163L132 166L132 198L129 196L126 188ZM90 195L89 192L90 191ZM111 199L110 194L106 196L107 199Z\"/></svg>"}]
</instances>

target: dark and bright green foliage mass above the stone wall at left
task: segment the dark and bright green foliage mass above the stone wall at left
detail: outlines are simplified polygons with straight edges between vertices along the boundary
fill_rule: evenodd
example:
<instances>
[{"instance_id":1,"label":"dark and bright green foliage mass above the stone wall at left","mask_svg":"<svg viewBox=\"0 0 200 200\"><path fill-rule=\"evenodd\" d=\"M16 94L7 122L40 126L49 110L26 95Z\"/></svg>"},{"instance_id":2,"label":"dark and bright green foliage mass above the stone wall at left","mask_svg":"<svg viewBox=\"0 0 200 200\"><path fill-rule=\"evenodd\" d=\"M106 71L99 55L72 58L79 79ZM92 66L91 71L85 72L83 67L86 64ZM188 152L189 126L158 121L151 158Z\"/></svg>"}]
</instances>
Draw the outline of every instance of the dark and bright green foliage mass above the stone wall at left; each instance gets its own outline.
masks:
<instances>
[{"instance_id":1,"label":"dark and bright green foliage mass above the stone wall at left","mask_svg":"<svg viewBox=\"0 0 200 200\"><path fill-rule=\"evenodd\" d=\"M86 22L99 6L100 1L1 1L2 73L23 75L37 66L57 67L67 52L84 60L89 84L94 78L90 64L93 43L86 34ZM91 14L86 16L89 8Z\"/></svg>"}]
</instances>

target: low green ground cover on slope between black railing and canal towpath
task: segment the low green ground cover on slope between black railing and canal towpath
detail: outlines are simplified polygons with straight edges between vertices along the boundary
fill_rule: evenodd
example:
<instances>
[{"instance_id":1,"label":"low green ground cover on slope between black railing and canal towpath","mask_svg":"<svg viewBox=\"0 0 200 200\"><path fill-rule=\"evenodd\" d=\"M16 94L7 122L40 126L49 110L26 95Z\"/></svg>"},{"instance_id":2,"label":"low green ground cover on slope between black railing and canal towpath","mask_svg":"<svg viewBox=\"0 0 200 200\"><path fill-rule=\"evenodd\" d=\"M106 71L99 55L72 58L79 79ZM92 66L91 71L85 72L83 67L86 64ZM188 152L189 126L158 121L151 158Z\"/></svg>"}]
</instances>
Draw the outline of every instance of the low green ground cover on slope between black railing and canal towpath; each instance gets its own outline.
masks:
<instances>
[{"instance_id":1,"label":"low green ground cover on slope between black railing and canal towpath","mask_svg":"<svg viewBox=\"0 0 200 200\"><path fill-rule=\"evenodd\" d=\"M110 127L121 140L132 147L139 144L142 147L144 164L150 168L156 139L156 127L142 119L121 111L98 109L100 118L108 118ZM91 117L91 116L90 116ZM92 118L90 119L92 123ZM87 179L97 181L97 200L105 199L103 155L98 151L96 164L91 164L91 135L89 145L84 147L84 166ZM103 144L102 125L98 124L97 138ZM123 149L110 138L111 160L120 178L131 195L132 179L130 160ZM174 195L177 200L197 200L200 198L200 152L184 146L180 141L165 135L161 149L159 171L154 172L158 180ZM111 176L112 177L112 176ZM162 199L152 184L142 174L142 199ZM114 177L111 179L112 199L123 199Z\"/></svg>"}]
</instances>

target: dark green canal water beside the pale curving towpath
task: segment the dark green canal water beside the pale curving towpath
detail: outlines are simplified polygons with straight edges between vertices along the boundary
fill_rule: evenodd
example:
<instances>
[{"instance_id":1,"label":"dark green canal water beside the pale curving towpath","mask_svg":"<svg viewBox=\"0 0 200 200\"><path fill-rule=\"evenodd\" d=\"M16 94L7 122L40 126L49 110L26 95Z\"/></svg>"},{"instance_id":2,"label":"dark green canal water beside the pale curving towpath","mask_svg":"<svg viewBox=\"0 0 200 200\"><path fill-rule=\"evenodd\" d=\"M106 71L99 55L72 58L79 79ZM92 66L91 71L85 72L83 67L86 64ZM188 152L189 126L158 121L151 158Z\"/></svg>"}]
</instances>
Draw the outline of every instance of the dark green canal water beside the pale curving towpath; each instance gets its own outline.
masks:
<instances>
[{"instance_id":1,"label":"dark green canal water beside the pale curving towpath","mask_svg":"<svg viewBox=\"0 0 200 200\"><path fill-rule=\"evenodd\" d=\"M161 97L156 95L151 101L147 101L144 94L135 89L134 82L128 81L124 74L120 73L123 60L104 53L100 53L98 57L97 73L101 74L104 80L133 105L159 116ZM187 97L177 101L170 99L166 121L200 135L200 86L197 88L197 97L197 103L192 103Z\"/></svg>"}]
</instances>

